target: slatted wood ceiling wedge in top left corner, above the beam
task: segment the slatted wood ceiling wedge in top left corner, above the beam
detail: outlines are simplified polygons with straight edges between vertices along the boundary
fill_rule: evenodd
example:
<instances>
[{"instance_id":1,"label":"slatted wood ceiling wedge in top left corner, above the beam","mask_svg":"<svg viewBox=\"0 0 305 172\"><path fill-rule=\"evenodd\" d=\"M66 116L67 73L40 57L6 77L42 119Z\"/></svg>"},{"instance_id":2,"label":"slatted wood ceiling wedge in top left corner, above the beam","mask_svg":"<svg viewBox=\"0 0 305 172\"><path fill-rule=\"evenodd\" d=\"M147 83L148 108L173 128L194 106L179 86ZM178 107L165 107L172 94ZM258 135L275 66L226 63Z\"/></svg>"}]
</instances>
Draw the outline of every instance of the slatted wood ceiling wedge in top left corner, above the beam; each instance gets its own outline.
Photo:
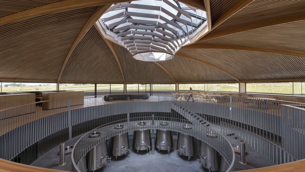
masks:
<instances>
[{"instance_id":1,"label":"slatted wood ceiling wedge in top left corner, above the beam","mask_svg":"<svg viewBox=\"0 0 305 172\"><path fill-rule=\"evenodd\" d=\"M0 3L0 17L62 0L5 0Z\"/></svg>"}]
</instances>

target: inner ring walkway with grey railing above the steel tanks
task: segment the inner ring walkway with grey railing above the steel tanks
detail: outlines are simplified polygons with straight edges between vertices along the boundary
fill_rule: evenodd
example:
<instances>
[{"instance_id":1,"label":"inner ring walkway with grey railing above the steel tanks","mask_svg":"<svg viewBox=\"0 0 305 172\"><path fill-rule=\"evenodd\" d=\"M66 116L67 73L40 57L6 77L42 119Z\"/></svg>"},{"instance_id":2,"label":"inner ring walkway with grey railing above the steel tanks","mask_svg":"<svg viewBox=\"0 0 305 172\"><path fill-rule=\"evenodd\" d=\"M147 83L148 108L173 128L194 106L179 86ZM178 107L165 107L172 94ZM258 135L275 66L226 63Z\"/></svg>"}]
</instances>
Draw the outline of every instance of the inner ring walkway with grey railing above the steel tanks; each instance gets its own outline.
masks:
<instances>
[{"instance_id":1,"label":"inner ring walkway with grey railing above the steel tanks","mask_svg":"<svg viewBox=\"0 0 305 172\"><path fill-rule=\"evenodd\" d=\"M165 120L164 120L165 119ZM160 122L167 122L168 125L161 125ZM138 125L138 122L145 122L146 125ZM122 129L115 129L115 125L123 125ZM185 127L188 126L188 127ZM230 142L220 133L208 128L200 123L190 122L182 118L146 116L128 118L118 121L113 121L95 128L84 134L74 145L72 150L72 164L77 172L81 172L77 165L81 159L100 142L109 139L115 135L143 129L162 129L181 132L191 135L199 140L206 142L208 145L216 149L224 160L229 164L227 171L234 171L235 153ZM101 135L97 138L90 138L89 134L100 132ZM211 133L213 134L211 137ZM153 148L154 149L154 148Z\"/></svg>"}]
</instances>

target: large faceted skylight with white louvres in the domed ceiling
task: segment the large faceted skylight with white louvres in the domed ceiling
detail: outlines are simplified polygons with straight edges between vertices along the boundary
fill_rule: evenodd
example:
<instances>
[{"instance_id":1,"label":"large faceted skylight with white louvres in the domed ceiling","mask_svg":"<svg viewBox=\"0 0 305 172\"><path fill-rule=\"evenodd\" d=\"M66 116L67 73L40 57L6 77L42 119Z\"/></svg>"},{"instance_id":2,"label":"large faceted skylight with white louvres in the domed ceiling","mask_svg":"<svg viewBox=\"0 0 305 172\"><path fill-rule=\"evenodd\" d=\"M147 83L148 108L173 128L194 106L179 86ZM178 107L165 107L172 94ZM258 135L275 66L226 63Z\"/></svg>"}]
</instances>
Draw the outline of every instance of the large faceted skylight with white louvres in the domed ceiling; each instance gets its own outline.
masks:
<instances>
[{"instance_id":1,"label":"large faceted skylight with white louvres in the domed ceiling","mask_svg":"<svg viewBox=\"0 0 305 172\"><path fill-rule=\"evenodd\" d=\"M100 18L105 33L142 61L163 61L206 27L206 12L175 0L113 4Z\"/></svg>"}]
</instances>

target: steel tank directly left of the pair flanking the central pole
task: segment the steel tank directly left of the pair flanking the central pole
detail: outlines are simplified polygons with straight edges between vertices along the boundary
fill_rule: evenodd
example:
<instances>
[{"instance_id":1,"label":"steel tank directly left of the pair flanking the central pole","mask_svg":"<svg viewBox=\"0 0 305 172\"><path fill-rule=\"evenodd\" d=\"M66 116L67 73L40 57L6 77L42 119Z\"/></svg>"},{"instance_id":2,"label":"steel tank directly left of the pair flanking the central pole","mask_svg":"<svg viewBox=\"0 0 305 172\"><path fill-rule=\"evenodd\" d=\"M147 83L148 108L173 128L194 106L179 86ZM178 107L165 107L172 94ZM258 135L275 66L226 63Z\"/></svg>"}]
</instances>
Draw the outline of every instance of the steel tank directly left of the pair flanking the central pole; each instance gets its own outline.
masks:
<instances>
[{"instance_id":1,"label":"steel tank directly left of the pair flanking the central pole","mask_svg":"<svg viewBox=\"0 0 305 172\"><path fill-rule=\"evenodd\" d=\"M128 133L122 133L113 137L112 156L117 160L118 156L130 153Z\"/></svg>"}]
</instances>

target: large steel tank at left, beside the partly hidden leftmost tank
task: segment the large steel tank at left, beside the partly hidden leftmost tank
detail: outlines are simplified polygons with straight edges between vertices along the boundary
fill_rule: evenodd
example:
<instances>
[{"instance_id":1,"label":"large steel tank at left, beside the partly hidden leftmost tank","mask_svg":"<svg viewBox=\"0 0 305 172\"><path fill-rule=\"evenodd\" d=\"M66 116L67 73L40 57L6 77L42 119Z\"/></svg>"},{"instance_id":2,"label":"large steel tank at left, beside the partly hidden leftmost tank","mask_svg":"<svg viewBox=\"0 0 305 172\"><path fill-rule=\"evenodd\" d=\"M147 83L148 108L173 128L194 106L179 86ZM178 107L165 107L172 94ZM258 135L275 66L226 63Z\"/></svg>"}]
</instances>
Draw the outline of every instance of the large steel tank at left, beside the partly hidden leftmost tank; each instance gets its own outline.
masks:
<instances>
[{"instance_id":1,"label":"large steel tank at left, beside the partly hidden leftmost tank","mask_svg":"<svg viewBox=\"0 0 305 172\"><path fill-rule=\"evenodd\" d=\"M92 148L86 155L87 170L95 171L99 168L104 167L110 158L107 153L107 142L106 140Z\"/></svg>"}]
</instances>

